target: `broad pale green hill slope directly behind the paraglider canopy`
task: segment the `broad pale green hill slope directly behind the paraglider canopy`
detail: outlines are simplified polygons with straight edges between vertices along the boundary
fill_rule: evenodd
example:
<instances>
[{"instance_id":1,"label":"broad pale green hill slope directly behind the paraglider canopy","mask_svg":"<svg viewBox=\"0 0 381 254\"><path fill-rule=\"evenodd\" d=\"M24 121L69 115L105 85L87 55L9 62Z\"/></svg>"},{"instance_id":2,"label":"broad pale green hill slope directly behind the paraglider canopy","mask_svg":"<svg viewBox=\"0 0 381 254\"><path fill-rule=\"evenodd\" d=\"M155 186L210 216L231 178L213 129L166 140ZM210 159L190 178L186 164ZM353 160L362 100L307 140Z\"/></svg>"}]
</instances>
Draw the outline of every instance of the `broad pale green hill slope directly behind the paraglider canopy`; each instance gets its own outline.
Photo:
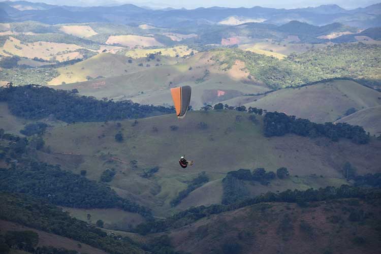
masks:
<instances>
[{"instance_id":1,"label":"broad pale green hill slope directly behind the paraglider canopy","mask_svg":"<svg viewBox=\"0 0 381 254\"><path fill-rule=\"evenodd\" d=\"M179 85L190 85L193 87L191 105L194 108L201 108L204 104L214 104L243 94L269 90L269 88L247 78L248 74L243 70L244 63L237 61L230 70L221 71L210 60L211 55L212 53L203 52L185 60L162 56L159 58L161 61L151 60L148 62L146 58L134 59L132 63L126 63L125 68L128 72L131 70L136 70L136 72L132 71L121 76L59 85L56 88L76 88L80 94L94 96L98 99L104 97L114 100L129 99L144 104L169 106L172 105L170 88ZM119 56L110 57L117 58ZM138 62L143 60L145 61L143 66L138 66ZM87 61L84 61L84 64ZM160 63L160 66L156 66L158 63ZM164 65L161 65L162 63ZM77 63L72 68L78 70L78 73L80 73L78 76L84 77L86 68L82 70L80 66ZM100 63L100 66L102 66L102 63ZM121 66L120 68L121 72L123 72L124 67ZM105 69L107 70L108 67ZM62 71L65 70L62 69Z\"/></svg>"}]
</instances>

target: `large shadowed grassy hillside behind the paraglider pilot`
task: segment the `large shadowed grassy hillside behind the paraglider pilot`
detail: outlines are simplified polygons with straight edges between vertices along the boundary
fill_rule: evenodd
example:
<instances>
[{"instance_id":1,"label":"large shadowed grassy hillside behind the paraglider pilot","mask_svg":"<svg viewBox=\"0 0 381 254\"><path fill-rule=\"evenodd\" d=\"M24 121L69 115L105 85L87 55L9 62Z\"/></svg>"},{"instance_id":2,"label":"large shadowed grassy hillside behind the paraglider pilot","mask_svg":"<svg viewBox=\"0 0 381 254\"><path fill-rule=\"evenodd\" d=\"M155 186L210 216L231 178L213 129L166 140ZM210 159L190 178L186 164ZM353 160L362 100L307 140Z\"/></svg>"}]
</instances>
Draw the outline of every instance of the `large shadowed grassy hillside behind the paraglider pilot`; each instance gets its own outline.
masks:
<instances>
[{"instance_id":1,"label":"large shadowed grassy hillside behind the paraglider pilot","mask_svg":"<svg viewBox=\"0 0 381 254\"><path fill-rule=\"evenodd\" d=\"M117 173L110 184L119 195L161 215L177 193L186 188L185 182L202 171L212 181L202 187L207 191L195 190L178 209L218 203L222 194L220 180L227 172L240 168L276 171L287 167L291 175L299 176L253 189L253 194L266 189L340 185L340 171L347 161L358 168L359 174L380 170L376 162L381 155L379 142L359 146L348 140L332 143L298 136L265 138L262 118L257 116L259 121L254 124L248 116L236 111L208 111L188 112L183 120L164 115L139 119L137 123L120 121L119 127L116 122L75 123L46 133L45 145L52 153L41 154L40 158L75 173L86 170L86 177L97 181L105 169L113 168ZM178 130L171 130L174 125ZM115 141L119 132L124 137L121 143ZM178 165L182 154L195 161L186 170ZM137 161L136 168L130 164L133 160ZM155 166L160 169L154 176L142 177L144 170ZM322 175L325 180L316 182L309 178L310 174Z\"/></svg>"}]
</instances>

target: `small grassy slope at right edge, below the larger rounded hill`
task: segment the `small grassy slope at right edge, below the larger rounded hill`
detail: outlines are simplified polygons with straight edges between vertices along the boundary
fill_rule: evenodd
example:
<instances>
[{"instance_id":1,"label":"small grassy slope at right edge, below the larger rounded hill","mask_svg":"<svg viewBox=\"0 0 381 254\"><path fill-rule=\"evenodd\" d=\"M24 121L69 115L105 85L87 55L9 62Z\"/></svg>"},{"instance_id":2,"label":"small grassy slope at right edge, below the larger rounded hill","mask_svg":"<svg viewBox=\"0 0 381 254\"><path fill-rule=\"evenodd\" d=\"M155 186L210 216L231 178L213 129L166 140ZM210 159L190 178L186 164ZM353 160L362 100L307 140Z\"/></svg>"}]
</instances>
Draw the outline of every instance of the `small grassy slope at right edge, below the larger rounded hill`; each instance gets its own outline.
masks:
<instances>
[{"instance_id":1,"label":"small grassy slope at right edge, below the larger rounded hill","mask_svg":"<svg viewBox=\"0 0 381 254\"><path fill-rule=\"evenodd\" d=\"M351 115L345 116L336 122L347 122L352 125L361 125L371 135L381 134L381 106L366 108Z\"/></svg>"}]
</instances>

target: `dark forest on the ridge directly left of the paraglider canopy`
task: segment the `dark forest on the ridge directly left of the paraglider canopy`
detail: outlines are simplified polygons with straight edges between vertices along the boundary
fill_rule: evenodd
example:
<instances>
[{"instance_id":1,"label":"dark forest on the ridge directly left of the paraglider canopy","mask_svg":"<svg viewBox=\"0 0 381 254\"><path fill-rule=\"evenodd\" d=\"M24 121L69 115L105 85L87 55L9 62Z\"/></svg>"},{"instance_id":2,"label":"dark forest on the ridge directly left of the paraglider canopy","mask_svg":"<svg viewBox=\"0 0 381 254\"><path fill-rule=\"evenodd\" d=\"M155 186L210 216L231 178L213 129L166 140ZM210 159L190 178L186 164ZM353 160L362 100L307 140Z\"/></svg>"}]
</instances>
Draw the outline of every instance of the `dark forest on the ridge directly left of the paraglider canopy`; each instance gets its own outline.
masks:
<instances>
[{"instance_id":1,"label":"dark forest on the ridge directly left of the paraglider canopy","mask_svg":"<svg viewBox=\"0 0 381 254\"><path fill-rule=\"evenodd\" d=\"M12 114L26 119L53 115L65 122L108 121L174 113L173 107L141 105L131 101L101 101L78 96L73 89L55 90L46 86L8 85L0 89L0 102L7 102Z\"/></svg>"}]
</instances>

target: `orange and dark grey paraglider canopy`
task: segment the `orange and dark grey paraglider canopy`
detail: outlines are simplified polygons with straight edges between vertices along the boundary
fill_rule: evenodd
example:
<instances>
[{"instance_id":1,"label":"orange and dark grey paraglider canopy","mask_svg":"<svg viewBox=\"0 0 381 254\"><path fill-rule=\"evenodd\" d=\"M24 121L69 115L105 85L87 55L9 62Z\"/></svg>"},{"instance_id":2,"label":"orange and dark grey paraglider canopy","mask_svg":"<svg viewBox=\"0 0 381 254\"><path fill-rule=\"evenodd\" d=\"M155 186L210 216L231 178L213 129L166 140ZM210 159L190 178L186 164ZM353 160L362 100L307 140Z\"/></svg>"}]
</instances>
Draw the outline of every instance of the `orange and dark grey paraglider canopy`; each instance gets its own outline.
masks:
<instances>
[{"instance_id":1,"label":"orange and dark grey paraglider canopy","mask_svg":"<svg viewBox=\"0 0 381 254\"><path fill-rule=\"evenodd\" d=\"M173 104L175 105L176 115L178 118L185 117L185 114L189 108L191 92L192 88L188 85L171 88Z\"/></svg>"}]
</instances>

